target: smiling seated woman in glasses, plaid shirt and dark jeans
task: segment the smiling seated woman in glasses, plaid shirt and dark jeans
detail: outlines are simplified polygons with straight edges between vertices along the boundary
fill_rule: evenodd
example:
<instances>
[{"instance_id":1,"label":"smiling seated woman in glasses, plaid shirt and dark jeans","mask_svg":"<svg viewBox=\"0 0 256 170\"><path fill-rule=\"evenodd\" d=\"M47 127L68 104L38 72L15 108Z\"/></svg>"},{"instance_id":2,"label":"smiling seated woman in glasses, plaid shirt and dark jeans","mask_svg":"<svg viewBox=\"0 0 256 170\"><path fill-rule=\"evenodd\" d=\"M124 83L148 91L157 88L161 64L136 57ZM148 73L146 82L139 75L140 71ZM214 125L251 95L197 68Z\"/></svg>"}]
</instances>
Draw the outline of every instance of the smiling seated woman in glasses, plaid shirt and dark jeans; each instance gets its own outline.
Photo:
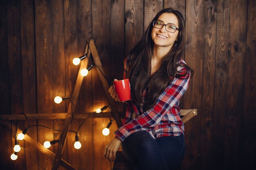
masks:
<instances>
[{"instance_id":1,"label":"smiling seated woman in glasses, plaid shirt and dark jeans","mask_svg":"<svg viewBox=\"0 0 256 170\"><path fill-rule=\"evenodd\" d=\"M124 78L130 79L131 100L124 126L104 149L108 161L115 160L122 145L124 156L137 163L135 170L171 170L180 165L185 142L178 105L193 76L181 59L184 33L182 14L163 9L126 57ZM113 86L109 92L118 101Z\"/></svg>"}]
</instances>

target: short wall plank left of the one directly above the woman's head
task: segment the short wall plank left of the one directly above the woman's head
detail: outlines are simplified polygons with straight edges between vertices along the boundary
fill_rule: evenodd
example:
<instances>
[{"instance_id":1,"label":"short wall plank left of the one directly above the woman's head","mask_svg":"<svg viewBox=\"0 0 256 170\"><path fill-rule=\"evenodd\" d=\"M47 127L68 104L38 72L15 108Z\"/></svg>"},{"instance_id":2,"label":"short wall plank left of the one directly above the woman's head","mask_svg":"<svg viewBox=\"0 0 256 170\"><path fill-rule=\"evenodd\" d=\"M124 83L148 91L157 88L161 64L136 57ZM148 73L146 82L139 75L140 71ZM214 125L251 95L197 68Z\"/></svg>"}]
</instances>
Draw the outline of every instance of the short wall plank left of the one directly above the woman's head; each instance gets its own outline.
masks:
<instances>
[{"instance_id":1,"label":"short wall plank left of the one directly above the woman's head","mask_svg":"<svg viewBox=\"0 0 256 170\"><path fill-rule=\"evenodd\" d=\"M155 15L163 9L163 0L145 0L144 1L144 32Z\"/></svg>"}]
</instances>

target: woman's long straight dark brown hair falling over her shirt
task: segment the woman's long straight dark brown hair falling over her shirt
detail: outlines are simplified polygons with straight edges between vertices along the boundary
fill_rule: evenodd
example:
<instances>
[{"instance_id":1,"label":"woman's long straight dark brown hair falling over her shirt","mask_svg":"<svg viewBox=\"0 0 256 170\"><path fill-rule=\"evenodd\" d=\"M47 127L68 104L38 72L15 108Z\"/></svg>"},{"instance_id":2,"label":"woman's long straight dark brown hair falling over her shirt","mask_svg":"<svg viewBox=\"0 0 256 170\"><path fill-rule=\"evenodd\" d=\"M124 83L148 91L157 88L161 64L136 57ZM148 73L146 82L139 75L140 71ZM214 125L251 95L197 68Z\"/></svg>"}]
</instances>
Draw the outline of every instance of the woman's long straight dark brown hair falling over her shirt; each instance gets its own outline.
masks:
<instances>
[{"instance_id":1,"label":"woman's long straight dark brown hair falling over her shirt","mask_svg":"<svg viewBox=\"0 0 256 170\"><path fill-rule=\"evenodd\" d=\"M162 13L173 13L176 15L179 22L179 33L177 35L177 41L173 44L173 47L169 53L162 59L160 68L152 75L151 74L151 58L153 55L154 42L151 38L151 32L153 29L153 22L159 18ZM172 8L163 9L159 11L155 18L150 22L143 37L135 45L135 47L127 55L130 58L128 65L127 78L130 79L131 84L131 98L135 100L137 104L144 104L146 109L155 105L158 96L164 91L164 89L171 84L174 77L182 77L190 73L193 75L193 70L186 64L179 62L183 53L185 45L185 22L182 14ZM185 73L177 71L177 67L182 66L186 68ZM143 92L148 87L147 94L143 96ZM143 103L142 98L145 97Z\"/></svg>"}]
</instances>

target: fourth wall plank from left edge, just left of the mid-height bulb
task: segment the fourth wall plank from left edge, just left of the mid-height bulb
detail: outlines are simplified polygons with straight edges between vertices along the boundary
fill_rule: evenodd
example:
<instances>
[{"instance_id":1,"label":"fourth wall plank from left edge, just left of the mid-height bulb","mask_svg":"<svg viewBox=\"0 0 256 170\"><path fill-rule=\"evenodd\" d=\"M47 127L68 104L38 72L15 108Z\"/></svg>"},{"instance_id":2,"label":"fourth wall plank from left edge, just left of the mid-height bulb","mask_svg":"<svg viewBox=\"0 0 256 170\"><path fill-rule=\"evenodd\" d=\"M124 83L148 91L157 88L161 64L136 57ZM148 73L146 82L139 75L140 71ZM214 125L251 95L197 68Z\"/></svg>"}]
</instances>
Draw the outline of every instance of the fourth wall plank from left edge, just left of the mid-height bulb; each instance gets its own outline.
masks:
<instances>
[{"instance_id":1,"label":"fourth wall plank from left edge, just left of the mid-height bulb","mask_svg":"<svg viewBox=\"0 0 256 170\"><path fill-rule=\"evenodd\" d=\"M37 78L37 111L52 113L52 25L51 3L47 0L34 2L35 6L35 43L36 43L36 78ZM38 124L53 128L53 121L38 120ZM38 127L38 142L54 140L52 130ZM49 148L53 151L53 147ZM53 159L38 153L39 163L44 168L51 169ZM39 168L41 170L42 168Z\"/></svg>"}]
</instances>

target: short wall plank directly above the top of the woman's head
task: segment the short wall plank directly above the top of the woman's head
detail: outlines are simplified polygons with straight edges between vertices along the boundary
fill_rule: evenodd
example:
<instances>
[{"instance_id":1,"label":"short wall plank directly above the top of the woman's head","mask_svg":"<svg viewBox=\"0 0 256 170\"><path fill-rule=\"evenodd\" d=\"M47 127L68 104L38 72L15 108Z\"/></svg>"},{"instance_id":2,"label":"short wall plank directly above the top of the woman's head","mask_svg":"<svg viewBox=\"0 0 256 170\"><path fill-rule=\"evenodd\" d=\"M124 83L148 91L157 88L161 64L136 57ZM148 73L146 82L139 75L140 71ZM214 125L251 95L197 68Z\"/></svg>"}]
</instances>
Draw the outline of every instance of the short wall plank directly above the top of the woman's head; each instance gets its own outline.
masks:
<instances>
[{"instance_id":1,"label":"short wall plank directly above the top of the woman's head","mask_svg":"<svg viewBox=\"0 0 256 170\"><path fill-rule=\"evenodd\" d=\"M173 8L186 16L186 0L164 0L164 8Z\"/></svg>"}]
</instances>

